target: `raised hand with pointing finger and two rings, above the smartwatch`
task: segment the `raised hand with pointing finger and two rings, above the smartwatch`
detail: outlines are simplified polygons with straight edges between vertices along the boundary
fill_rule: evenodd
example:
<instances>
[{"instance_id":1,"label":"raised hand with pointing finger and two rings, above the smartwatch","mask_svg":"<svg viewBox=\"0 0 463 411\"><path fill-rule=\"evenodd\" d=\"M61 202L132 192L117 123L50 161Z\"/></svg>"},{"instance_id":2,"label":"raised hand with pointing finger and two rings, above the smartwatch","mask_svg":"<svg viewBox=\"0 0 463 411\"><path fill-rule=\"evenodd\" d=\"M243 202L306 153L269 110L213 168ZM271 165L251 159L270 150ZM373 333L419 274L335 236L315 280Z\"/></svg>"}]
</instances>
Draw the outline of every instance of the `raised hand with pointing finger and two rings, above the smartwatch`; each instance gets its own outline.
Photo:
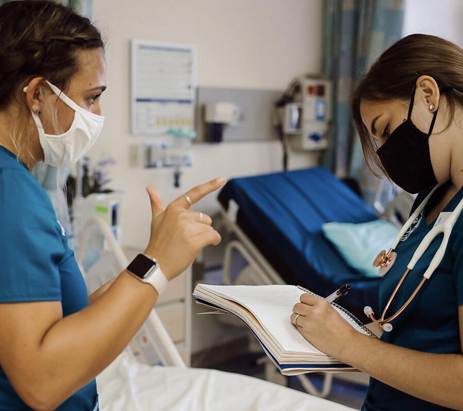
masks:
<instances>
[{"instance_id":1,"label":"raised hand with pointing finger and two rings, above the smartwatch","mask_svg":"<svg viewBox=\"0 0 463 411\"><path fill-rule=\"evenodd\" d=\"M194 204L222 187L225 179L216 179L189 190L186 195ZM190 211L190 203L182 195L164 209L158 192L147 187L151 200L153 219L151 238L145 254L156 258L167 279L181 274L191 265L194 258L206 246L218 245L220 234L214 230L212 219L198 212Z\"/></svg>"}]
</instances>

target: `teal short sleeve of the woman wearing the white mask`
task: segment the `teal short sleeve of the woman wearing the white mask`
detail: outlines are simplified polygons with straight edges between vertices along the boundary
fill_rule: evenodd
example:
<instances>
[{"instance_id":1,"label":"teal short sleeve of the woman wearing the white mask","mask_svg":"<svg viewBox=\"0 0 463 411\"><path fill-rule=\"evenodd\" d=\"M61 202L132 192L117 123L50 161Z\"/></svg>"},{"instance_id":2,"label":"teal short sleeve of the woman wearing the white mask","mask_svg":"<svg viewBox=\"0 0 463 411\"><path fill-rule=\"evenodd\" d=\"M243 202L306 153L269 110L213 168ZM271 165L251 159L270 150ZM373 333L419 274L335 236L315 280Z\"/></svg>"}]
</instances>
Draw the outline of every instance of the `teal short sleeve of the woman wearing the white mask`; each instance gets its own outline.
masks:
<instances>
[{"instance_id":1,"label":"teal short sleeve of the woman wearing the white mask","mask_svg":"<svg viewBox=\"0 0 463 411\"><path fill-rule=\"evenodd\" d=\"M64 251L38 181L26 170L0 169L0 303L61 300Z\"/></svg>"}]
</instances>

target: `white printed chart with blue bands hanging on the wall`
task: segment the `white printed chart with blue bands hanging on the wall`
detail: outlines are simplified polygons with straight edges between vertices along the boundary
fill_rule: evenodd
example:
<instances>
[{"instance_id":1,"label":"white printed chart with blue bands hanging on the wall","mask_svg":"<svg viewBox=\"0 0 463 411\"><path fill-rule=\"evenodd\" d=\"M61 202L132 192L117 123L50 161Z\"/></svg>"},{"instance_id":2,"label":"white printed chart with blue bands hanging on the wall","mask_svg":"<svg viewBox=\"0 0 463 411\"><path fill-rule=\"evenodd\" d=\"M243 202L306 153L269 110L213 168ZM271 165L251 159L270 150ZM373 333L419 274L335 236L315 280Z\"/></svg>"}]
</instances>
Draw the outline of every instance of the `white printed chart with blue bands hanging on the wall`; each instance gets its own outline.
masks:
<instances>
[{"instance_id":1,"label":"white printed chart with blue bands hanging on the wall","mask_svg":"<svg viewBox=\"0 0 463 411\"><path fill-rule=\"evenodd\" d=\"M194 127L196 47L132 40L132 134Z\"/></svg>"}]
</instances>

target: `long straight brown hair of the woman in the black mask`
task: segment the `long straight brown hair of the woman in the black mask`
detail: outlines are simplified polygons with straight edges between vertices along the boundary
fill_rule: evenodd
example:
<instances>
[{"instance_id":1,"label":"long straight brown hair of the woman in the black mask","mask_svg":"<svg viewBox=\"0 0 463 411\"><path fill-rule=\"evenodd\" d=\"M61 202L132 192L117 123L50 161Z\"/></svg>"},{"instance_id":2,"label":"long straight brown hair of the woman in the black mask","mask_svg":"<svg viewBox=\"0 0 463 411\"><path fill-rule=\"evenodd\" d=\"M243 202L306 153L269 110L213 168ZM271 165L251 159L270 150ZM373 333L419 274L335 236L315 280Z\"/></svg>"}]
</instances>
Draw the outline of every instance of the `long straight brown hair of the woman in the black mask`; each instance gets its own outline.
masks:
<instances>
[{"instance_id":1,"label":"long straight brown hair of the woman in the black mask","mask_svg":"<svg viewBox=\"0 0 463 411\"><path fill-rule=\"evenodd\" d=\"M380 177L379 172L387 174L376 154L376 140L362 121L360 101L410 100L420 76L431 76L441 92L445 92L450 119L453 119L456 105L463 106L463 50L434 35L411 34L394 43L373 63L352 91L352 118L366 163L377 177Z\"/></svg>"}]
</instances>

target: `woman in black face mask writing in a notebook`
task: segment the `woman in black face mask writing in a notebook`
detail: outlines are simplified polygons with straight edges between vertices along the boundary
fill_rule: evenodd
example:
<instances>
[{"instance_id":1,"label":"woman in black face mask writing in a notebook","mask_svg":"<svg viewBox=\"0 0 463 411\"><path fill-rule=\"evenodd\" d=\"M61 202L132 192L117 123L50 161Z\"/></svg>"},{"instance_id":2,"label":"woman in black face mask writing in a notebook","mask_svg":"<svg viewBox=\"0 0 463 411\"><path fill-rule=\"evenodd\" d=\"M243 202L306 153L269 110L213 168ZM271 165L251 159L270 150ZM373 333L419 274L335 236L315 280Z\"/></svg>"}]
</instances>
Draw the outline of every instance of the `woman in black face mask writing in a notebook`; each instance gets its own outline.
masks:
<instances>
[{"instance_id":1,"label":"woman in black face mask writing in a notebook","mask_svg":"<svg viewBox=\"0 0 463 411\"><path fill-rule=\"evenodd\" d=\"M380 285L380 313L423 237L463 199L463 50L414 34L386 50L355 86L352 116L373 173L383 172L426 203L396 248ZM442 236L409 272L386 318L413 294ZM354 331L322 298L304 294L297 326L316 347L371 376L362 410L463 409L463 215L442 261L389 332L372 339ZM341 301L342 305L342 301ZM375 313L378 318L380 313Z\"/></svg>"}]
</instances>

